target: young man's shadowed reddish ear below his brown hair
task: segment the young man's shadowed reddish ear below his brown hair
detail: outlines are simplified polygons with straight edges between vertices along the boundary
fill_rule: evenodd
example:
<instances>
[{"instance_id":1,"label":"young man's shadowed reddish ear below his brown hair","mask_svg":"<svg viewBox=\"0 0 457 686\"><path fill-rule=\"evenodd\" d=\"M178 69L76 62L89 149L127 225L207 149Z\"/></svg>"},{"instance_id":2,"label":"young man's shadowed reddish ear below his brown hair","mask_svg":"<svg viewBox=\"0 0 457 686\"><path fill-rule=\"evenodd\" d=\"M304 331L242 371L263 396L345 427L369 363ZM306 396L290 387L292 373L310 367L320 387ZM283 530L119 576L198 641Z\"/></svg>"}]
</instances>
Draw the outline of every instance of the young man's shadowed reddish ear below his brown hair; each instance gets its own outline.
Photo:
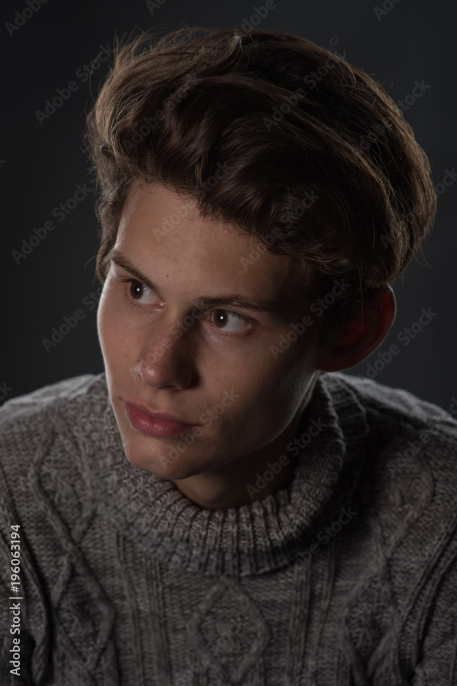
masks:
<instances>
[{"instance_id":1,"label":"young man's shadowed reddish ear below his brown hair","mask_svg":"<svg viewBox=\"0 0 457 686\"><path fill-rule=\"evenodd\" d=\"M378 348L393 324L397 306L390 286L385 285L362 305L354 322L338 331L321 348L317 369L336 372L354 367Z\"/></svg>"}]
</instances>

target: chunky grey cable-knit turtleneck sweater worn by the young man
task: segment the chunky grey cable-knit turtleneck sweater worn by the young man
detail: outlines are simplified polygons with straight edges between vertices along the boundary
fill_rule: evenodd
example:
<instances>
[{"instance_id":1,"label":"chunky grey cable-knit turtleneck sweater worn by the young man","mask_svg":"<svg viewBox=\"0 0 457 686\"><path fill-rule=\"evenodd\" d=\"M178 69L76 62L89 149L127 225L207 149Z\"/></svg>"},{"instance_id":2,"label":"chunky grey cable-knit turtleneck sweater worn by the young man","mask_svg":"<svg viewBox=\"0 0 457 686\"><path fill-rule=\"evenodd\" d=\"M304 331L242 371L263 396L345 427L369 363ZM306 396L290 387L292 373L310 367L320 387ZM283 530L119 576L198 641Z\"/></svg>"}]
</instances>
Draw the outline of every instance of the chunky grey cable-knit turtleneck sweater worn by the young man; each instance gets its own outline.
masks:
<instances>
[{"instance_id":1,"label":"chunky grey cable-knit turtleneck sweater worn by the young man","mask_svg":"<svg viewBox=\"0 0 457 686\"><path fill-rule=\"evenodd\" d=\"M455 686L457 422L334 372L317 423L209 510L127 460L104 374L5 403L1 686Z\"/></svg>"}]
</instances>

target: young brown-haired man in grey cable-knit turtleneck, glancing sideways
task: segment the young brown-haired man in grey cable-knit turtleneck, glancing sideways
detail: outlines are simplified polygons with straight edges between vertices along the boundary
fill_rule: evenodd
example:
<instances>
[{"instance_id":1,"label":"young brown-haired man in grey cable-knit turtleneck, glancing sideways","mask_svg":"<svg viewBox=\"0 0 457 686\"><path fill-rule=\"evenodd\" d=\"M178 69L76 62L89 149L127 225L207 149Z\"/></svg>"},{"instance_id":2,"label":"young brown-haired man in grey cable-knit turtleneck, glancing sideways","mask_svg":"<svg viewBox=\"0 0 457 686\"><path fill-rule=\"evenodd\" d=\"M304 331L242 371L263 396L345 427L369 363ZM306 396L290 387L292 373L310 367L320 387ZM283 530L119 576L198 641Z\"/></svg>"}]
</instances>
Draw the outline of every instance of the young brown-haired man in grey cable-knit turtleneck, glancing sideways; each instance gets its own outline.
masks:
<instances>
[{"instance_id":1,"label":"young brown-haired man in grey cable-knit turtleneck, glancing sideways","mask_svg":"<svg viewBox=\"0 0 457 686\"><path fill-rule=\"evenodd\" d=\"M88 117L106 370L0 412L1 683L450 686L457 422L341 373L427 158L304 38L149 40Z\"/></svg>"}]
</instances>

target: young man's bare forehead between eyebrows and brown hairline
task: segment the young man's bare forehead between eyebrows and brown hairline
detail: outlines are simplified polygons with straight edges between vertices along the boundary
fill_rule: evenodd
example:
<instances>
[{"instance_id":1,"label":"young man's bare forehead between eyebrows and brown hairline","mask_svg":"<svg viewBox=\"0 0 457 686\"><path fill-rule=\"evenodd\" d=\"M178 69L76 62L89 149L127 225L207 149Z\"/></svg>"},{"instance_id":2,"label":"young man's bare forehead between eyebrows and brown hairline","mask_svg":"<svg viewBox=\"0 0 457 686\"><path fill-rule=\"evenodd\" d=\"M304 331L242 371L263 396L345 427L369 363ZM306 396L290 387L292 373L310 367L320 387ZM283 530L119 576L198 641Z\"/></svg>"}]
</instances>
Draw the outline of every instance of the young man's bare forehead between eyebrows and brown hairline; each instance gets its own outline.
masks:
<instances>
[{"instance_id":1,"label":"young man's bare forehead between eyebrows and brown hairline","mask_svg":"<svg viewBox=\"0 0 457 686\"><path fill-rule=\"evenodd\" d=\"M162 287L195 297L223 292L262 296L293 311L306 296L306 276L297 258L273 255L256 237L203 219L194 200L162 185L132 188L116 248Z\"/></svg>"}]
</instances>

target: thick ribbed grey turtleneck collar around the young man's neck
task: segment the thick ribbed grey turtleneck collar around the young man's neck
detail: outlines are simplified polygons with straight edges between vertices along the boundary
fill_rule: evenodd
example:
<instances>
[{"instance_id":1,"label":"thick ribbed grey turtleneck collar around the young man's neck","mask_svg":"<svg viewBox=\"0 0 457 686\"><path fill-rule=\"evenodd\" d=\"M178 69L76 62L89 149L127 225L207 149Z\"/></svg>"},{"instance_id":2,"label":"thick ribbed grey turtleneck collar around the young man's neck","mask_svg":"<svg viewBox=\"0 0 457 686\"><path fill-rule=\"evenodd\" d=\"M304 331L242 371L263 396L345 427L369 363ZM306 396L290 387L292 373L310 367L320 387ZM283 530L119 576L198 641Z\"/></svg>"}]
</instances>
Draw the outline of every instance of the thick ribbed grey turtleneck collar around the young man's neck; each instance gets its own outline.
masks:
<instances>
[{"instance_id":1,"label":"thick ribbed grey turtleneck collar around the young man's neck","mask_svg":"<svg viewBox=\"0 0 457 686\"><path fill-rule=\"evenodd\" d=\"M92 426L94 416L101 419L98 435L87 437L86 446L97 446L90 468L104 521L165 563L206 574L247 576L291 563L325 506L341 506L350 496L368 434L365 410L351 385L343 375L321 374L297 436L313 419L327 426L294 458L290 484L251 505L210 510L195 505L171 481L129 462L104 373L86 397Z\"/></svg>"}]
</instances>

